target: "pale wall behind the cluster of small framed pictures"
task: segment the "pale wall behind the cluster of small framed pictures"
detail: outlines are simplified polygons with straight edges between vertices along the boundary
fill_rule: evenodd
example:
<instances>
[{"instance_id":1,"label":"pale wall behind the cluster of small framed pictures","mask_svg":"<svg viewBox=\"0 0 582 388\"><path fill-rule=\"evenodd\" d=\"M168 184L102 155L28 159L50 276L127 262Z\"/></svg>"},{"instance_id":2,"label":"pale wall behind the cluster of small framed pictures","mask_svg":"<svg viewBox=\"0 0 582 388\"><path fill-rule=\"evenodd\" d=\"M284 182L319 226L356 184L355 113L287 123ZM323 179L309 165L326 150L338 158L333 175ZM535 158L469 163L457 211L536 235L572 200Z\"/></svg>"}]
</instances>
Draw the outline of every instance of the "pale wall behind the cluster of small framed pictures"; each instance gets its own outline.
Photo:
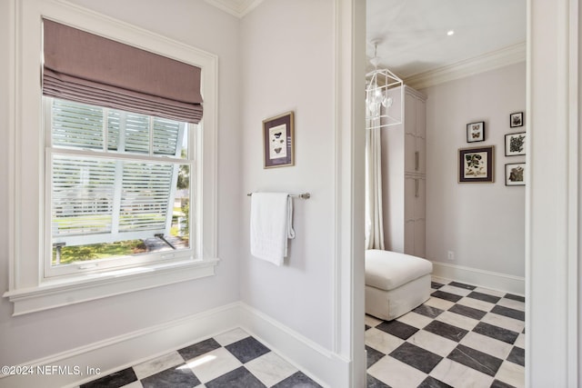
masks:
<instances>
[{"instance_id":1,"label":"pale wall behind the cluster of small framed pictures","mask_svg":"<svg viewBox=\"0 0 582 388\"><path fill-rule=\"evenodd\" d=\"M526 107L526 64L422 90L426 99L426 258L525 276L525 187L505 185L509 114ZM485 142L467 143L466 124L484 121ZM458 149L495 145L495 183L457 183ZM447 260L448 251L455 260Z\"/></svg>"}]
</instances>

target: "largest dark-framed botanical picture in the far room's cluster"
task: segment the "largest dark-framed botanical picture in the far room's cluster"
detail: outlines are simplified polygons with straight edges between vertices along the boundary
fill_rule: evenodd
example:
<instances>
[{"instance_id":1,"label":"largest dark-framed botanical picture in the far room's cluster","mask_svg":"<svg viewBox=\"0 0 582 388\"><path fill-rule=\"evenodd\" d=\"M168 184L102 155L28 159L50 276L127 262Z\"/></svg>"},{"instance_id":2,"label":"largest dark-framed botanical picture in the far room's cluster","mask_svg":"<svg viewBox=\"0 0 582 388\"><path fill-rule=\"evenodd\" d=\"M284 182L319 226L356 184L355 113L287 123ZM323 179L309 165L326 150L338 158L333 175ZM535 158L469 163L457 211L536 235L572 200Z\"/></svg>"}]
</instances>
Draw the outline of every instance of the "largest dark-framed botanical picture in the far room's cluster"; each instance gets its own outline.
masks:
<instances>
[{"instance_id":1,"label":"largest dark-framed botanical picture in the far room's cluster","mask_svg":"<svg viewBox=\"0 0 582 388\"><path fill-rule=\"evenodd\" d=\"M495 182L495 145L458 150L459 183Z\"/></svg>"}]
</instances>

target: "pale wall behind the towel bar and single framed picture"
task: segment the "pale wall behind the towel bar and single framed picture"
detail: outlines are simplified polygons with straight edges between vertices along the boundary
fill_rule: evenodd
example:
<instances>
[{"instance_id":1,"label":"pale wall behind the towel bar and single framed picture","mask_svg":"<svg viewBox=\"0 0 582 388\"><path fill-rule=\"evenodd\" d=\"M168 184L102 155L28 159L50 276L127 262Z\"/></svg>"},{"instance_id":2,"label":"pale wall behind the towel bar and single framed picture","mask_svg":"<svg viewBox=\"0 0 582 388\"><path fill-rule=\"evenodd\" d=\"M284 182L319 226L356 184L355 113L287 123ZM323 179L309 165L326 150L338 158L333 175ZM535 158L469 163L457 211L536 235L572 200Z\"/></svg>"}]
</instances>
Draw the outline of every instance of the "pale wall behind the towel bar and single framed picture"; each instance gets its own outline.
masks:
<instances>
[{"instance_id":1,"label":"pale wall behind the towel bar and single framed picture","mask_svg":"<svg viewBox=\"0 0 582 388\"><path fill-rule=\"evenodd\" d=\"M270 0L242 20L243 209L241 299L332 349L335 229L334 1ZM296 114L296 165L263 169L262 121ZM249 254L246 193L312 194L295 200L296 238L284 266Z\"/></svg>"}]
</instances>

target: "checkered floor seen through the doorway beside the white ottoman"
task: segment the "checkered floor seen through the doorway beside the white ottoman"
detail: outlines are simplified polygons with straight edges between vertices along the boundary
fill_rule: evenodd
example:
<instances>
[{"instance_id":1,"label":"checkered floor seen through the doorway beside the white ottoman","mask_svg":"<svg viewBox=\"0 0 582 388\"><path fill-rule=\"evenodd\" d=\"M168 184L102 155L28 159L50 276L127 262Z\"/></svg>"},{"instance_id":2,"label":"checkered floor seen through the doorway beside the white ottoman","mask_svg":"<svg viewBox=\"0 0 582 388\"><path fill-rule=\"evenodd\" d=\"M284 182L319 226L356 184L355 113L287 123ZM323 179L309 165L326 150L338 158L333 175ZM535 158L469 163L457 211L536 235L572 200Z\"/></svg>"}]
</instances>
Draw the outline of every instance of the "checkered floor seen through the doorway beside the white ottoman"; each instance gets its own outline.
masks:
<instances>
[{"instance_id":1,"label":"checkered floor seen through the doorway beside the white ottoman","mask_svg":"<svg viewBox=\"0 0 582 388\"><path fill-rule=\"evenodd\" d=\"M457 282L432 288L394 321L366 315L367 388L523 387L525 299Z\"/></svg>"}]
</instances>

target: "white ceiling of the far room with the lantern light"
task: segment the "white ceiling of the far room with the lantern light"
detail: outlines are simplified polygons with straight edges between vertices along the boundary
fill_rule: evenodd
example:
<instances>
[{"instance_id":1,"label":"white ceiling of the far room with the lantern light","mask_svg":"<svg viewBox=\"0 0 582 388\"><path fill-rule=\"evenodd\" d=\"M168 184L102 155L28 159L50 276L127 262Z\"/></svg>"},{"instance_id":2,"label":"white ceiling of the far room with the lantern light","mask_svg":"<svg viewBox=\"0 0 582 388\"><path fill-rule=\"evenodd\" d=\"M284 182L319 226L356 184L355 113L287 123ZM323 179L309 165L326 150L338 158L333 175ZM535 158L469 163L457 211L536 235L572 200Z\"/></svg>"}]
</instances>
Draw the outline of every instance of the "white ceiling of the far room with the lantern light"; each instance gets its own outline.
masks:
<instances>
[{"instance_id":1,"label":"white ceiling of the far room with the lantern light","mask_svg":"<svg viewBox=\"0 0 582 388\"><path fill-rule=\"evenodd\" d=\"M380 67L406 79L525 47L526 0L366 0L366 25L368 58L378 40Z\"/></svg>"}]
</instances>

